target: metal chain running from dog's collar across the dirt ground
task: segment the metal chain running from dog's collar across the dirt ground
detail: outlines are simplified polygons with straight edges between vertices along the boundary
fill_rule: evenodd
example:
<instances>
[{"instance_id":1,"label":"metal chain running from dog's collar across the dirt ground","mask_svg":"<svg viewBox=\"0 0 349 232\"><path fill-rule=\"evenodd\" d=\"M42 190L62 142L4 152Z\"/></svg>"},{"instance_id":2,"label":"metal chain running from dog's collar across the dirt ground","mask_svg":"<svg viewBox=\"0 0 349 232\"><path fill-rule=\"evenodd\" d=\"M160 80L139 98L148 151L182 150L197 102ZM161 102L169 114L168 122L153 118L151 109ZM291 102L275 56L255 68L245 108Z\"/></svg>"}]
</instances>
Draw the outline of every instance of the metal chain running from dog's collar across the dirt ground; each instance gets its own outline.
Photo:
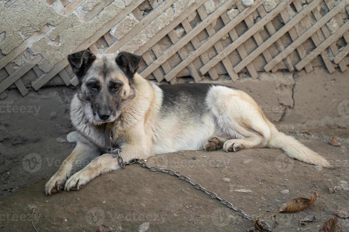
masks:
<instances>
[{"instance_id":1,"label":"metal chain running from dog's collar across the dirt ground","mask_svg":"<svg viewBox=\"0 0 349 232\"><path fill-rule=\"evenodd\" d=\"M125 165L133 165L134 163L139 163L141 165L142 168L148 168L149 171L159 171L162 173L167 173L171 176L177 176L179 179L184 180L190 184L192 184L195 189L199 189L202 192L205 192L206 194L210 195L212 199L217 199L219 200L223 205L228 206L228 208L234 210L236 212L237 215L244 217L247 220L253 221L255 224L258 225L259 230L264 230L264 231L272 231L272 228L270 227L270 225L265 221L265 220L257 220L256 218L250 217L247 214L245 214L241 209L237 209L233 206L233 204L225 199L222 199L220 197L218 197L218 195L212 191L209 191L207 189L205 189L204 187L201 186L201 184L199 183L195 183L193 182L189 177L185 176L185 175L179 175L176 173L176 171L172 170L172 169L163 169L163 168L158 168L158 167L150 167L147 165L147 163L141 162L139 158L135 158L132 161L129 162L122 162L122 158L119 154L119 150L117 151L117 157L118 157L118 163L119 165L121 165L121 167L125 167ZM119 159L120 157L120 159ZM120 161L121 163L120 163ZM258 228L257 228L258 229Z\"/></svg>"}]
</instances>

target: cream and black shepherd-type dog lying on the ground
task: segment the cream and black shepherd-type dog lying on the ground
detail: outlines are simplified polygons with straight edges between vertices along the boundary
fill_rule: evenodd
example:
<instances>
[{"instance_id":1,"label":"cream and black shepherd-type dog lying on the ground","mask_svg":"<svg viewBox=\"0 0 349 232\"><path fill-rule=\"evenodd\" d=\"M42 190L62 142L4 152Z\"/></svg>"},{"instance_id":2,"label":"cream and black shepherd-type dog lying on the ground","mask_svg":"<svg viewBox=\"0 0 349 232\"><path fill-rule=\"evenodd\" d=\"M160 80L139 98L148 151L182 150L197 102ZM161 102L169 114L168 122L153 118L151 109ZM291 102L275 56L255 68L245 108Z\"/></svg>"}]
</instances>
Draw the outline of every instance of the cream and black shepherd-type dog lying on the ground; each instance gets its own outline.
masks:
<instances>
[{"instance_id":1,"label":"cream and black shepherd-type dog lying on the ground","mask_svg":"<svg viewBox=\"0 0 349 232\"><path fill-rule=\"evenodd\" d=\"M279 132L245 92L223 85L161 85L138 73L141 57L127 52L68 56L79 85L70 105L78 141L44 187L50 195L79 190L91 179L120 169L106 153L106 124L124 161L183 150L237 152L279 148L289 157L330 167L329 162Z\"/></svg>"}]
</instances>

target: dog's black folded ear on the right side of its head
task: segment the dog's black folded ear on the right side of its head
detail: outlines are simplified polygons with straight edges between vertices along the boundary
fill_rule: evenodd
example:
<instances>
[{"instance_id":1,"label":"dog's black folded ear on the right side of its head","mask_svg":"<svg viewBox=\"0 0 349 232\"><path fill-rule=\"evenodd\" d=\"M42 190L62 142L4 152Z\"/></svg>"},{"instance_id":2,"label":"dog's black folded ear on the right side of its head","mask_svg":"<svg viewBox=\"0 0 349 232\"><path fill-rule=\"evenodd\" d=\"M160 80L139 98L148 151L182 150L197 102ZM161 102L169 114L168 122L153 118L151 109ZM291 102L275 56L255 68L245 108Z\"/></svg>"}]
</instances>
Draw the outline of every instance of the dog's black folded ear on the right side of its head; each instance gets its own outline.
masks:
<instances>
[{"instance_id":1,"label":"dog's black folded ear on the right side of its head","mask_svg":"<svg viewBox=\"0 0 349 232\"><path fill-rule=\"evenodd\" d=\"M141 62L142 57L128 53L126 51L121 51L116 57L116 63L124 70L127 77L133 78L134 73L138 70L138 65Z\"/></svg>"}]
</instances>

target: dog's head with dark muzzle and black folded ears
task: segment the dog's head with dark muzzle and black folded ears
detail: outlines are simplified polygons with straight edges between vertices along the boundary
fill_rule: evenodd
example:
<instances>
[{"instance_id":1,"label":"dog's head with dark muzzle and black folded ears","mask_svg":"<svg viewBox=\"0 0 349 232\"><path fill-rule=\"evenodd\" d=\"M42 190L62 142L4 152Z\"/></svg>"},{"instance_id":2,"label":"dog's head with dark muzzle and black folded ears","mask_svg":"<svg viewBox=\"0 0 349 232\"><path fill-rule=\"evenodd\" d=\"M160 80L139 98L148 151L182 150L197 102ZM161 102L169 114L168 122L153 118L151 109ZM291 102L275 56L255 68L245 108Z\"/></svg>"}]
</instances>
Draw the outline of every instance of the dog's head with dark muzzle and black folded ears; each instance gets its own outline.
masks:
<instances>
[{"instance_id":1,"label":"dog's head with dark muzzle and black folded ears","mask_svg":"<svg viewBox=\"0 0 349 232\"><path fill-rule=\"evenodd\" d=\"M119 54L94 55L88 50L68 56L79 79L77 96L86 104L86 113L96 122L111 122L135 95L134 74L141 57Z\"/></svg>"}]
</instances>

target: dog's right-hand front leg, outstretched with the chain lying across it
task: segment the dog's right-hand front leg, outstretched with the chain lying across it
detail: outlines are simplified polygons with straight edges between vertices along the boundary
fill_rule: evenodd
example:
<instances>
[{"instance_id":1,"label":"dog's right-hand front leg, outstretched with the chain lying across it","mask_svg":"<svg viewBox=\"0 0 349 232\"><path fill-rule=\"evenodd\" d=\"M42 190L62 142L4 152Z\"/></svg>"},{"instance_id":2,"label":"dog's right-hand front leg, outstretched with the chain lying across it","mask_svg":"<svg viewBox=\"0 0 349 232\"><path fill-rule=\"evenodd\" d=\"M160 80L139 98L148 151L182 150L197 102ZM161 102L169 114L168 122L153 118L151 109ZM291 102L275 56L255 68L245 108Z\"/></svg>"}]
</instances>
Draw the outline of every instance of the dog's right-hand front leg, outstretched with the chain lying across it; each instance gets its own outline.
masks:
<instances>
[{"instance_id":1,"label":"dog's right-hand front leg, outstretched with the chain lying across it","mask_svg":"<svg viewBox=\"0 0 349 232\"><path fill-rule=\"evenodd\" d=\"M147 159L151 155L151 149L146 149L145 147L140 144L127 144L122 148L120 155L124 161L130 161L134 158ZM121 169L118 159L111 154L103 154L72 175L65 183L64 190L79 190L96 176L118 169Z\"/></svg>"}]
</instances>

